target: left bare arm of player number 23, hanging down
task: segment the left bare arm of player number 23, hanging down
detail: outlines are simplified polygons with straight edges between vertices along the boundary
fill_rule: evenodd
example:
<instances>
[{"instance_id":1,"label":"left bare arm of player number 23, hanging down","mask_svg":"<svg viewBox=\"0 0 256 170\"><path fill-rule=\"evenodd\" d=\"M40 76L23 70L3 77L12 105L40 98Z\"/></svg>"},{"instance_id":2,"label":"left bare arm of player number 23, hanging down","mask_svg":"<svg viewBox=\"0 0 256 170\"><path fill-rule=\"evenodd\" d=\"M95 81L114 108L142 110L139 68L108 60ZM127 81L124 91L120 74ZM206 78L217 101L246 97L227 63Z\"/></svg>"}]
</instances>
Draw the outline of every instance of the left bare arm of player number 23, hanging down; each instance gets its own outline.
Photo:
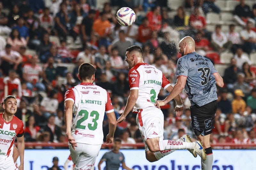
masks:
<instances>
[{"instance_id":1,"label":"left bare arm of player number 23, hanging down","mask_svg":"<svg viewBox=\"0 0 256 170\"><path fill-rule=\"evenodd\" d=\"M72 112L73 112L74 101L66 100L64 102L64 120L66 125L66 135L68 137L68 142L72 145L74 150L77 147L74 137L71 135L71 123L72 123Z\"/></svg>"}]
</instances>

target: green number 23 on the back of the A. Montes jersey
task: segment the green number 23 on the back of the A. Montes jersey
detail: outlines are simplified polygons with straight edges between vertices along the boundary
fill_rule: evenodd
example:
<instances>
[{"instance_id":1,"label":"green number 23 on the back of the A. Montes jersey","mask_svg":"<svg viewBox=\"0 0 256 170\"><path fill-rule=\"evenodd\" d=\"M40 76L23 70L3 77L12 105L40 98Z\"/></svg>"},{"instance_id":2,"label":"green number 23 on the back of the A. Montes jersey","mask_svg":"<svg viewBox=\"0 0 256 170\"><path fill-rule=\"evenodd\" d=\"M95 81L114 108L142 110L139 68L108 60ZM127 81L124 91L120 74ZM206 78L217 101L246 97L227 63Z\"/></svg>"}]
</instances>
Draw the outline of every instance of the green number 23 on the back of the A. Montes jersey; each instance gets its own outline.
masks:
<instances>
[{"instance_id":1,"label":"green number 23 on the back of the A. Montes jersey","mask_svg":"<svg viewBox=\"0 0 256 170\"><path fill-rule=\"evenodd\" d=\"M87 110L80 110L78 112L78 115L79 116L83 116L84 115L84 116L77 121L76 128L85 129L85 126L81 125L81 123L84 122L86 119L88 119L89 112ZM93 125L91 123L88 123L88 129L90 129L90 130L95 130L95 129L97 129L97 126L98 126L98 123L96 121L99 119L99 115L100 114L97 111L93 110L90 113L90 116L94 117L94 115L95 115L95 118L92 119Z\"/></svg>"}]
</instances>

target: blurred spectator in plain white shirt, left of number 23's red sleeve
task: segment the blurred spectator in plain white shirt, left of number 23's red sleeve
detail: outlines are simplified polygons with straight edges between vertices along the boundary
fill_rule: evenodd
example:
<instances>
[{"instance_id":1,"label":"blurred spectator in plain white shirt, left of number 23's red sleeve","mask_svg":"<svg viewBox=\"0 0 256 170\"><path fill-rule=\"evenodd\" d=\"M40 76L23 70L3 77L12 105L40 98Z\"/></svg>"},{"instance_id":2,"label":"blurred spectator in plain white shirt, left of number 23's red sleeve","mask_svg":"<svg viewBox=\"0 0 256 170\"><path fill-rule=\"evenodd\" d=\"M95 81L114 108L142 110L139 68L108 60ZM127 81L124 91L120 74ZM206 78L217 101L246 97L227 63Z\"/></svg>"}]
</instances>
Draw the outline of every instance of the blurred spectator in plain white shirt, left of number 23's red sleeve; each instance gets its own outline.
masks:
<instances>
[{"instance_id":1,"label":"blurred spectator in plain white shirt, left of number 23's red sleeve","mask_svg":"<svg viewBox=\"0 0 256 170\"><path fill-rule=\"evenodd\" d=\"M41 101L40 110L44 113L46 118L49 118L50 115L56 115L59 102L57 100L58 92L52 90L47 97L44 97Z\"/></svg>"}]
</instances>

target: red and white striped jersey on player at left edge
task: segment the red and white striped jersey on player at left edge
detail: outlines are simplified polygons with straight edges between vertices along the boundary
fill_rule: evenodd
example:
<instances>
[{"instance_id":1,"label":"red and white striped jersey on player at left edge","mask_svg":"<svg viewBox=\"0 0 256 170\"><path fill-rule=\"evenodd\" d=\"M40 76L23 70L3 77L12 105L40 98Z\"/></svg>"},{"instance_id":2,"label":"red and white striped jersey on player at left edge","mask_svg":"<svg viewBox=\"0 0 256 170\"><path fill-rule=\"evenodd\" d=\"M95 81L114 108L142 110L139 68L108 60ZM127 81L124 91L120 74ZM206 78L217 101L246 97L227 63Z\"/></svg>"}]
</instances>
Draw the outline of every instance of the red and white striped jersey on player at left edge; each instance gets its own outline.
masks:
<instances>
[{"instance_id":1,"label":"red and white striped jersey on player at left edge","mask_svg":"<svg viewBox=\"0 0 256 170\"><path fill-rule=\"evenodd\" d=\"M5 122L3 113L0 114L0 162L8 157L12 157L13 143L16 137L24 134L23 122L13 116L12 121Z\"/></svg>"}]
</instances>

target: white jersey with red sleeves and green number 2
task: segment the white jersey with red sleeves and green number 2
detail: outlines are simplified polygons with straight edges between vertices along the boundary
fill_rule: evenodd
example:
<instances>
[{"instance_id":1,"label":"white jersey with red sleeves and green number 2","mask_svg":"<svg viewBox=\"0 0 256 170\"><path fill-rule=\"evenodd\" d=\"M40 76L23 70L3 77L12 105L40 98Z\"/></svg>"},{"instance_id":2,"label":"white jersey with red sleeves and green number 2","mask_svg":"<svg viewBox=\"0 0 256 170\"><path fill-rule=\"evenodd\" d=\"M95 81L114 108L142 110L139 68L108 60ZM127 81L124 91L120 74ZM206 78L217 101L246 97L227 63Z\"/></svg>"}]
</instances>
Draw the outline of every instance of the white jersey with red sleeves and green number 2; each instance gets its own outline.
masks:
<instances>
[{"instance_id":1,"label":"white jersey with red sleeves and green number 2","mask_svg":"<svg viewBox=\"0 0 256 170\"><path fill-rule=\"evenodd\" d=\"M147 107L156 107L158 93L170 86L162 71L147 63L138 63L128 73L130 90L138 89L139 96L133 112Z\"/></svg>"}]
</instances>

